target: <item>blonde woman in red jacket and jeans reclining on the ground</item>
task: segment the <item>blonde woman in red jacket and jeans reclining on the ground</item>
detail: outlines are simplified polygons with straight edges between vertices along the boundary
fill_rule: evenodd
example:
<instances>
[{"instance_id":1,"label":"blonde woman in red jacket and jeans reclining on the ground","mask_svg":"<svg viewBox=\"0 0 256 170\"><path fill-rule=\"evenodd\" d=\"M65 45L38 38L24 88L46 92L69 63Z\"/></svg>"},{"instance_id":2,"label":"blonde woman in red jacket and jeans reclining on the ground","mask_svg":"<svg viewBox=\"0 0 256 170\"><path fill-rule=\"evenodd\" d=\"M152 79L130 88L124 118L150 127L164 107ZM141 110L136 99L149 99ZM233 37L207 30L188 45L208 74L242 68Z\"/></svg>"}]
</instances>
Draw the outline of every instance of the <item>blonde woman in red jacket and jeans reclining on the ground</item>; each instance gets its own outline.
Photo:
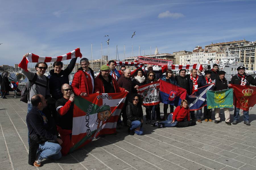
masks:
<instances>
[{"instance_id":1,"label":"blonde woman in red jacket and jeans reclining on the ground","mask_svg":"<svg viewBox=\"0 0 256 170\"><path fill-rule=\"evenodd\" d=\"M173 114L169 114L166 121L160 123L154 123L153 126L158 126L158 128L164 127L176 127L178 122L183 122L184 120L190 121L189 108L187 100L182 100L180 107L176 107Z\"/></svg>"}]
</instances>

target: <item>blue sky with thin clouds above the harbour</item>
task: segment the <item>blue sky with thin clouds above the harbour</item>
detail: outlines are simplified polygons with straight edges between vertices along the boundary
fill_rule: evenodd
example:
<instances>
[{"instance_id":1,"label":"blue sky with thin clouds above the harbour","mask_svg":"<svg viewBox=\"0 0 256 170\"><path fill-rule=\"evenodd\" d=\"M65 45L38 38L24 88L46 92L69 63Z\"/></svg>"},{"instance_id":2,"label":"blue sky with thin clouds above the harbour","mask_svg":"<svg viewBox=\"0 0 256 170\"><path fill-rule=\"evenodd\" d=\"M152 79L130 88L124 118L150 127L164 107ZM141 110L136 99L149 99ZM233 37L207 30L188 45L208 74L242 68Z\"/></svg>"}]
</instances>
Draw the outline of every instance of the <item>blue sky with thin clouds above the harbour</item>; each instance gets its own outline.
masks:
<instances>
[{"instance_id":1,"label":"blue sky with thin clouds above the harbour","mask_svg":"<svg viewBox=\"0 0 256 170\"><path fill-rule=\"evenodd\" d=\"M256 41L255 0L169 1L3 1L0 11L0 65L19 63L32 52L59 56L80 47L83 57L119 59L246 39ZM133 32L136 35L131 39ZM64 62L66 63L66 62Z\"/></svg>"}]
</instances>

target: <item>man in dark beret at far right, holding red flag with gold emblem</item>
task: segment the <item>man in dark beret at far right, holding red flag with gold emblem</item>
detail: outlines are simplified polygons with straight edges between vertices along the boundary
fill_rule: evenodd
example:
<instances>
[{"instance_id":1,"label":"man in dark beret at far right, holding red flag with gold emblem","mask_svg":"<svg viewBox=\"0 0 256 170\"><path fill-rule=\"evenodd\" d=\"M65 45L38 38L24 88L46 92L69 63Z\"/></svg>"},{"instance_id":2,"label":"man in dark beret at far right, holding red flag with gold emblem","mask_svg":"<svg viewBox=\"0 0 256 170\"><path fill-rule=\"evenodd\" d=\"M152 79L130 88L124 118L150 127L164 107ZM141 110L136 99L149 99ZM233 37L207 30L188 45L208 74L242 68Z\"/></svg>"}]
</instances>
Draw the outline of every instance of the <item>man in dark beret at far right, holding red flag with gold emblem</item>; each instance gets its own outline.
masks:
<instances>
[{"instance_id":1,"label":"man in dark beret at far right, holding red flag with gold emblem","mask_svg":"<svg viewBox=\"0 0 256 170\"><path fill-rule=\"evenodd\" d=\"M239 66L236 70L238 73L231 78L229 82L230 84L228 84L228 86L231 86L231 84L238 84L241 86L250 86L250 84L255 85L255 80L253 79L253 77L245 73L245 67ZM234 120L232 123L234 125L238 124L239 111L240 109L235 107ZM248 126L251 125L249 122L249 111L243 111L243 120L244 120L243 122L244 124Z\"/></svg>"}]
</instances>

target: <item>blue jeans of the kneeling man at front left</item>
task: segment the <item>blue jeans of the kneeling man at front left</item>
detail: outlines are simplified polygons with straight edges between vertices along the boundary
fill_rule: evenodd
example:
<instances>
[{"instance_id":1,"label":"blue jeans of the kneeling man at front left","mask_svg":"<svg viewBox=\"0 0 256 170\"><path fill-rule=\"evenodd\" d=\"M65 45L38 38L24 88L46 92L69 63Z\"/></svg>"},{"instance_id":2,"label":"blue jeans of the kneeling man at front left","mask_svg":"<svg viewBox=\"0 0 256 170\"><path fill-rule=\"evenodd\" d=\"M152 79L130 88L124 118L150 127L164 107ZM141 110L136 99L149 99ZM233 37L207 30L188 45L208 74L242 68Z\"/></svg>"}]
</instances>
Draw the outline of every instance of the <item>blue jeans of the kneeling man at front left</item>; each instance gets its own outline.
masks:
<instances>
[{"instance_id":1,"label":"blue jeans of the kneeling man at front left","mask_svg":"<svg viewBox=\"0 0 256 170\"><path fill-rule=\"evenodd\" d=\"M58 143L45 142L38 146L38 154L42 158L60 159L60 151L61 146Z\"/></svg>"}]
</instances>

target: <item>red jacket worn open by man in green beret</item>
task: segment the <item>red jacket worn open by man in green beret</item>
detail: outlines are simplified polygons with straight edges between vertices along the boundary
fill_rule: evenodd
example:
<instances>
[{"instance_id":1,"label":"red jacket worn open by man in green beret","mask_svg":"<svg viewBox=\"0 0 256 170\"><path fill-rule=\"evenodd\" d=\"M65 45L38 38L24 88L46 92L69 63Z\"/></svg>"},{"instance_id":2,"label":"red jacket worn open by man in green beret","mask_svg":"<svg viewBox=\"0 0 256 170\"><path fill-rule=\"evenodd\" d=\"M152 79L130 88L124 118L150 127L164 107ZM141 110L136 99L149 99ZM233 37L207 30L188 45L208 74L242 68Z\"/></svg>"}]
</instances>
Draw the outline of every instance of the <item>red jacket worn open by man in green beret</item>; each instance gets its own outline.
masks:
<instances>
[{"instance_id":1,"label":"red jacket worn open by man in green beret","mask_svg":"<svg viewBox=\"0 0 256 170\"><path fill-rule=\"evenodd\" d=\"M94 92L100 92L100 93L105 93L105 89L104 89L104 85L103 82L101 80L101 78L99 77L100 74L95 78L95 87L94 87ZM121 88L117 81L115 80L115 78L113 78L112 76L109 76L109 78L112 78L112 83L115 89L115 93L119 93L119 92L125 92L124 88Z\"/></svg>"}]
</instances>

